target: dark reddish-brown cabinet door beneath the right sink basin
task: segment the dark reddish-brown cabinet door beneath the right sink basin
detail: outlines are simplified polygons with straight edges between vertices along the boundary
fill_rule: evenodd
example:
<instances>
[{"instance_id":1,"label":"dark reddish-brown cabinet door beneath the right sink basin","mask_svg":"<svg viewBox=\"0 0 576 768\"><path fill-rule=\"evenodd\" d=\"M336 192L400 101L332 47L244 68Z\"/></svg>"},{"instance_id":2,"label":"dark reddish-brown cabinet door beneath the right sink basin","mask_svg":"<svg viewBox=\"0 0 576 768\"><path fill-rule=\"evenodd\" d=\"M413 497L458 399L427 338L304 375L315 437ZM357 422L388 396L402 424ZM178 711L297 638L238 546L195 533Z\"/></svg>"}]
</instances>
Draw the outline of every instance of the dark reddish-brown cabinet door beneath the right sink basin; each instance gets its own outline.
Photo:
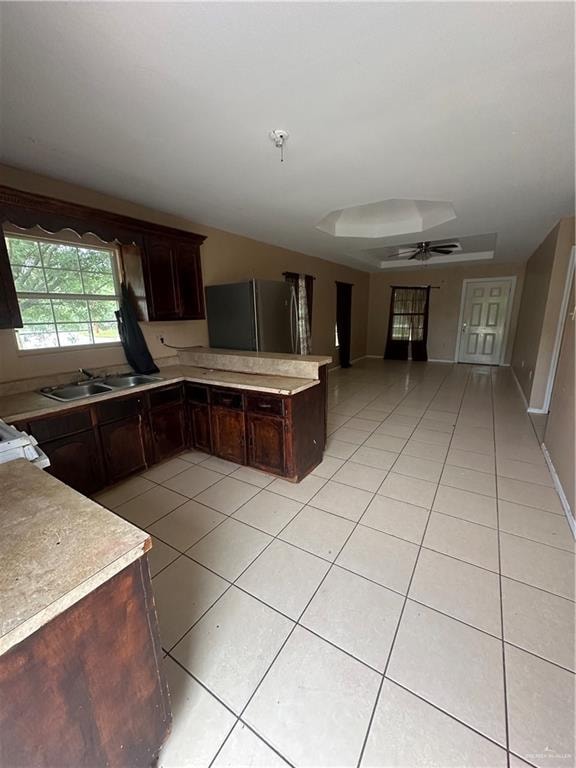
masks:
<instances>
[{"instance_id":1,"label":"dark reddish-brown cabinet door beneath the right sink basin","mask_svg":"<svg viewBox=\"0 0 576 768\"><path fill-rule=\"evenodd\" d=\"M144 429L140 416L103 424L100 440L109 483L146 468Z\"/></svg>"}]
</instances>

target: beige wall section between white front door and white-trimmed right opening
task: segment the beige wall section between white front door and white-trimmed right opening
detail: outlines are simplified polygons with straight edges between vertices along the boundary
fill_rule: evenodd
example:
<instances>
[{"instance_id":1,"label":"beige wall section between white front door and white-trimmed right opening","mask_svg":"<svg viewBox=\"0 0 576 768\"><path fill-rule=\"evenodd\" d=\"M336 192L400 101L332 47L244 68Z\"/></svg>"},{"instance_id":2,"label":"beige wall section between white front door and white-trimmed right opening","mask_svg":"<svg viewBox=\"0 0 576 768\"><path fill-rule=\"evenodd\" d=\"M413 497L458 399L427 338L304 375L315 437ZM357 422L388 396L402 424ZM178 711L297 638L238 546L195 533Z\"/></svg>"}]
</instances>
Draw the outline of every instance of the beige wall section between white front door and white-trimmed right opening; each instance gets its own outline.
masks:
<instances>
[{"instance_id":1,"label":"beige wall section between white front door and white-trimmed right opening","mask_svg":"<svg viewBox=\"0 0 576 768\"><path fill-rule=\"evenodd\" d=\"M526 264L512 367L530 408L544 406L573 245L574 217L562 219Z\"/></svg>"}]
</instances>

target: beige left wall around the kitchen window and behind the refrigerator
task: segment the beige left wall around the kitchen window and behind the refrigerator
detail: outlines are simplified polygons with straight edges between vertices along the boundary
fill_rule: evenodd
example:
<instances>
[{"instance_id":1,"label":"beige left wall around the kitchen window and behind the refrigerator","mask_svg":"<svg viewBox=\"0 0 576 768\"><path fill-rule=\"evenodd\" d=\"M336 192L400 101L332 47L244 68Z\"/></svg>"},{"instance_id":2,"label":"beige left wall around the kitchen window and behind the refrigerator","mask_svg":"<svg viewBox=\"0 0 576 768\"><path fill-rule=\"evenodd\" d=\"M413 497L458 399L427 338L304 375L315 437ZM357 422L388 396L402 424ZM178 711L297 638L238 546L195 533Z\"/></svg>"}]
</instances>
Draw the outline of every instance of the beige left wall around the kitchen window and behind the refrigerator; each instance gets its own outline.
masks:
<instances>
[{"instance_id":1,"label":"beige left wall around the kitchen window and behind the refrigerator","mask_svg":"<svg viewBox=\"0 0 576 768\"><path fill-rule=\"evenodd\" d=\"M316 282L312 324L313 352L332 355L335 360L335 281L353 283L351 356L361 357L366 352L369 275L365 272L212 229L126 200L8 166L0 165L0 183L206 235L207 239L202 246L205 285L248 278L282 280L282 273L285 271L314 275ZM164 336L168 344L176 346L206 344L208 341L204 320L142 323L142 329L150 351L157 360L174 354L160 344L160 336ZM57 350L22 353L18 351L14 332L0 331L0 381L4 382L76 371L80 367L113 367L125 362L119 346L66 352Z\"/></svg>"}]
</instances>

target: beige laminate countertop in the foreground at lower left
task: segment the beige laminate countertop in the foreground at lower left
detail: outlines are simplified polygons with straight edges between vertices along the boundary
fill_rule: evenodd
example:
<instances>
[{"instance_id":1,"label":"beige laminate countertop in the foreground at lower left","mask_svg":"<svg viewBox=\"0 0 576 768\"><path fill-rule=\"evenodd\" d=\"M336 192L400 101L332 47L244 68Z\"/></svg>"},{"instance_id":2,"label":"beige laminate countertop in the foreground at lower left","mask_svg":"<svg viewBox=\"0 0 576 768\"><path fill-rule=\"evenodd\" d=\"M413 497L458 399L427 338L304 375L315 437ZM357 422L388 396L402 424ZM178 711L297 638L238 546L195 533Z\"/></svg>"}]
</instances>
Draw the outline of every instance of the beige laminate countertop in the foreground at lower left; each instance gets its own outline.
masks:
<instances>
[{"instance_id":1,"label":"beige laminate countertop in the foreground at lower left","mask_svg":"<svg viewBox=\"0 0 576 768\"><path fill-rule=\"evenodd\" d=\"M0 464L0 654L150 548L147 533L25 459Z\"/></svg>"}]
</instances>

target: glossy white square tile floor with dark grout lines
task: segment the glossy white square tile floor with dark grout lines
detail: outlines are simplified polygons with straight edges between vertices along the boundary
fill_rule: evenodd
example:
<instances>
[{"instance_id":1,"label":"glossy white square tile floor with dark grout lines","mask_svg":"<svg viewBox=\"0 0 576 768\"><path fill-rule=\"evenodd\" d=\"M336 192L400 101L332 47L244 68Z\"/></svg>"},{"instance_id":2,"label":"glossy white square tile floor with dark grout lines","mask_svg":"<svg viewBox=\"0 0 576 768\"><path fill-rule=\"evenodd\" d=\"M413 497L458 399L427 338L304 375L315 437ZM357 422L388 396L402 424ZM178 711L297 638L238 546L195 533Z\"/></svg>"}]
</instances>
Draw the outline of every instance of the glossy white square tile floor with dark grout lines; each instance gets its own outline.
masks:
<instances>
[{"instance_id":1,"label":"glossy white square tile floor with dark grout lines","mask_svg":"<svg viewBox=\"0 0 576 768\"><path fill-rule=\"evenodd\" d=\"M188 452L99 496L154 536L159 765L574 765L574 539L508 369L329 377L298 485Z\"/></svg>"}]
</instances>

